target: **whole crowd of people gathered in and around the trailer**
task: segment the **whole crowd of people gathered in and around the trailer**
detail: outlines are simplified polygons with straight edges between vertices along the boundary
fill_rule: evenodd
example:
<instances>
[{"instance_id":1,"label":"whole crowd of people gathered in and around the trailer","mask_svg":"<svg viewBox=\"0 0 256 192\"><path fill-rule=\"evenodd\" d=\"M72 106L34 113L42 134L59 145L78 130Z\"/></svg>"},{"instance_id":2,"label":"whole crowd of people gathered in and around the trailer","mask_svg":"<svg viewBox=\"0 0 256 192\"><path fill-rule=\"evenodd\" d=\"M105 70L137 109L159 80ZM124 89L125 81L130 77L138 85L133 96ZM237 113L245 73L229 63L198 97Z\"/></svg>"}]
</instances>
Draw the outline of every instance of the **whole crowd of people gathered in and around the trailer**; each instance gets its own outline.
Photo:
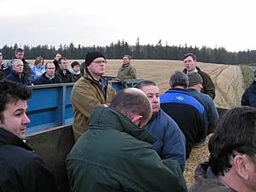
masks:
<instances>
[{"instance_id":1,"label":"whole crowd of people gathered in and around the trailer","mask_svg":"<svg viewBox=\"0 0 256 192\"><path fill-rule=\"evenodd\" d=\"M0 191L58 191L43 161L22 141L30 122L26 101L32 93L26 85L70 82L72 191L256 191L256 109L233 108L218 119L212 79L196 66L195 55L183 61L163 94L150 80L116 93L104 77L107 61L100 52L87 53L70 69L60 54L45 65L38 57L30 67L22 49L7 64L0 53ZM131 56L124 55L117 79L136 78ZM242 105L250 103L249 91ZM196 167L195 184L188 188L186 160L209 134L209 160Z\"/></svg>"}]
</instances>

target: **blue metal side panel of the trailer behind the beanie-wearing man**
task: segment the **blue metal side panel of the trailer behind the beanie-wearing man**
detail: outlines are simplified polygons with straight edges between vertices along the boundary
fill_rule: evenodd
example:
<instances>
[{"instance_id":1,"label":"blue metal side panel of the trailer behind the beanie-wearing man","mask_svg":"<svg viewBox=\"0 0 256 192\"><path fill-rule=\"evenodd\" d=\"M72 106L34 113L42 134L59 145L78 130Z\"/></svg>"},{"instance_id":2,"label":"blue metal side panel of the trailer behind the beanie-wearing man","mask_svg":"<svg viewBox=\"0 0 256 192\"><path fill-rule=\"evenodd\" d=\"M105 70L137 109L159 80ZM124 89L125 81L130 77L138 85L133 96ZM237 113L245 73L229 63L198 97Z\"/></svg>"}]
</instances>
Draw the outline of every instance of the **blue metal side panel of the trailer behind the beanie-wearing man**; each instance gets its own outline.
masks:
<instances>
[{"instance_id":1,"label":"blue metal side panel of the trailer behind the beanie-wearing man","mask_svg":"<svg viewBox=\"0 0 256 192\"><path fill-rule=\"evenodd\" d=\"M133 87L142 79L127 79L123 82L109 81L119 92ZM33 85L32 98L27 101L27 115L31 123L27 125L26 135L60 125L73 123L73 108L70 96L72 84Z\"/></svg>"}]
</instances>

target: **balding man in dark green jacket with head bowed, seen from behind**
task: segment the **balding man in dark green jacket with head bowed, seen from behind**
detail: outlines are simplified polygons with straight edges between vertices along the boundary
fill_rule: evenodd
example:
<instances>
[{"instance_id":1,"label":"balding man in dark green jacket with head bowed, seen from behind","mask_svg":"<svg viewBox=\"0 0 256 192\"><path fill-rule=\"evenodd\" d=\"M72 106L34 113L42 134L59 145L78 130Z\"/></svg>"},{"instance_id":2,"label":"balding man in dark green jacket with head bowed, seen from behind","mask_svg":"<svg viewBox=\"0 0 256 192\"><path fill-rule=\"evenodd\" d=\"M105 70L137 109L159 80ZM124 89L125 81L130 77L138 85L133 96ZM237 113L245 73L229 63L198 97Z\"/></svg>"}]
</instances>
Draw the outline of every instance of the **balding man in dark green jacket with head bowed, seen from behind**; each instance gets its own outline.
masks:
<instances>
[{"instance_id":1,"label":"balding man in dark green jacket with head bowed, seen from behind","mask_svg":"<svg viewBox=\"0 0 256 192\"><path fill-rule=\"evenodd\" d=\"M161 160L142 127L152 114L142 90L121 90L109 108L96 107L89 130L67 156L73 192L186 191L176 160Z\"/></svg>"}]
</instances>

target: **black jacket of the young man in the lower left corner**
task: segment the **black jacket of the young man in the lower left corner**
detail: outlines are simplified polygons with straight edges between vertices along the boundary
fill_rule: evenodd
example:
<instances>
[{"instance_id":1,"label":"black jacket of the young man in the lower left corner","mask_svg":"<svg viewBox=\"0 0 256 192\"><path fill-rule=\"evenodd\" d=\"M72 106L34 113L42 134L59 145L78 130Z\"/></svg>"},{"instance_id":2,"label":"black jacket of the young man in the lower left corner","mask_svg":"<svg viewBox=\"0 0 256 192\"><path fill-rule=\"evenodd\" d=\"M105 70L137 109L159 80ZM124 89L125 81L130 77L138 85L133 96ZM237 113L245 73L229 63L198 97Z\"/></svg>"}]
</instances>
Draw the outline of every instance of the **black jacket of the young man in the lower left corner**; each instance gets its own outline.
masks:
<instances>
[{"instance_id":1,"label":"black jacket of the young man in the lower left corner","mask_svg":"<svg viewBox=\"0 0 256 192\"><path fill-rule=\"evenodd\" d=\"M32 148L0 128L0 191L57 192L55 178Z\"/></svg>"}]
</instances>

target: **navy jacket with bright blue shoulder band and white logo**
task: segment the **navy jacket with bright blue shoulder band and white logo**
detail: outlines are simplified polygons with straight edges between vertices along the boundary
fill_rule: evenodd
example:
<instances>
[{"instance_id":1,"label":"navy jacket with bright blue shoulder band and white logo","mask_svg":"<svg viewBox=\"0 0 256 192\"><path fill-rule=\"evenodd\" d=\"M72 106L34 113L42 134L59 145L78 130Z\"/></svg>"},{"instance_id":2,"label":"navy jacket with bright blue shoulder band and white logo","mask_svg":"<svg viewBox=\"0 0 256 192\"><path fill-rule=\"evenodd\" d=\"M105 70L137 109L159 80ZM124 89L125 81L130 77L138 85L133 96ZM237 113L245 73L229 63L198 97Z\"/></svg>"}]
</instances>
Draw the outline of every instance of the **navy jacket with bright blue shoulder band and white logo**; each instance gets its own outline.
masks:
<instances>
[{"instance_id":1,"label":"navy jacket with bright blue shoulder band and white logo","mask_svg":"<svg viewBox=\"0 0 256 192\"><path fill-rule=\"evenodd\" d=\"M186 138L186 158L196 143L207 137L205 108L188 90L171 89L160 96L161 108L174 119Z\"/></svg>"}]
</instances>

